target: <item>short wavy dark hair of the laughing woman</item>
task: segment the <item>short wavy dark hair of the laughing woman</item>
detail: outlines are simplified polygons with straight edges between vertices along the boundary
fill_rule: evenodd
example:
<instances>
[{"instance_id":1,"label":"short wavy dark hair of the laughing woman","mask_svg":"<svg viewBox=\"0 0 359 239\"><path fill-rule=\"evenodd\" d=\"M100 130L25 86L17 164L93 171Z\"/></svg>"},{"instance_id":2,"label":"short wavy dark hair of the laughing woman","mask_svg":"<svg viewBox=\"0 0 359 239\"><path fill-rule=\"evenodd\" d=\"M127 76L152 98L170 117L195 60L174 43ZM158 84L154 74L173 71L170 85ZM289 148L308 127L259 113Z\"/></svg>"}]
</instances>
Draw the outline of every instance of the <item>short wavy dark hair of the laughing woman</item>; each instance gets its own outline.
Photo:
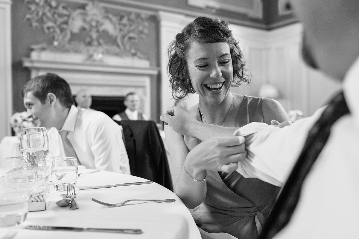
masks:
<instances>
[{"instance_id":1,"label":"short wavy dark hair of the laughing woman","mask_svg":"<svg viewBox=\"0 0 359 239\"><path fill-rule=\"evenodd\" d=\"M229 29L227 21L199 16L188 23L176 40L168 47L169 85L174 99L183 99L190 93L195 93L187 69L186 54L190 44L194 41L201 43L225 42L229 45L233 66L232 86L237 87L242 81L251 82L249 70L243 59L241 48Z\"/></svg>"}]
</instances>

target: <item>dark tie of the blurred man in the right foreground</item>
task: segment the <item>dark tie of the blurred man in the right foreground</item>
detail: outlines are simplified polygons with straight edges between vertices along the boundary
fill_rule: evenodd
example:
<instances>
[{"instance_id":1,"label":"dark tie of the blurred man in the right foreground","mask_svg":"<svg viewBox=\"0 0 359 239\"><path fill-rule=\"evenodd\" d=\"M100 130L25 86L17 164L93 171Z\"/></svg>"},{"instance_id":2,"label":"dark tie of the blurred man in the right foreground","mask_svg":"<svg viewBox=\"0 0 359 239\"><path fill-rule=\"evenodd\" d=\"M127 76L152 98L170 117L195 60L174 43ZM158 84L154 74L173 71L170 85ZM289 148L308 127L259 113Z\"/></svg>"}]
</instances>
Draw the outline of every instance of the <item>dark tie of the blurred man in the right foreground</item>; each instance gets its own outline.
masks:
<instances>
[{"instance_id":1,"label":"dark tie of the blurred man in the right foreground","mask_svg":"<svg viewBox=\"0 0 359 239\"><path fill-rule=\"evenodd\" d=\"M297 206L300 190L313 163L323 149L330 134L332 124L341 116L348 114L349 109L345 103L343 92L340 92L328 105L318 121L309 131L293 171L290 173L271 214L259 236L260 239L270 239L288 224L293 211Z\"/></svg>"}]
</instances>

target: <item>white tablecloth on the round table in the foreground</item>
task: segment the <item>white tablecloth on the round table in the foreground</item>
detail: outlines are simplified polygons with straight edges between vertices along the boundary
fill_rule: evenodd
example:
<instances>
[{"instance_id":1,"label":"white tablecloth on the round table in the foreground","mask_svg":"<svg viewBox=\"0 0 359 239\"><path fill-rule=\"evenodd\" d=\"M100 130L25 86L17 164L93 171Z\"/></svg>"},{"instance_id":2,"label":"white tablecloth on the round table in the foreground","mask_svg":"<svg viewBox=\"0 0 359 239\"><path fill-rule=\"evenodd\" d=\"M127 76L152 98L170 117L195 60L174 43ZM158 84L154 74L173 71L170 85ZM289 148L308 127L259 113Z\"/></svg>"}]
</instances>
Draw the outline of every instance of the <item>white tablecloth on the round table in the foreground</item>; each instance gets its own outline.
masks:
<instances>
[{"instance_id":1,"label":"white tablecloth on the round table in the foreground","mask_svg":"<svg viewBox=\"0 0 359 239\"><path fill-rule=\"evenodd\" d=\"M79 170L79 173L92 171L94 169L83 169ZM0 231L3 235L6 230L16 232L14 239L201 239L199 229L181 199L172 191L155 182L143 185L79 190L81 187L142 181L148 180L107 171L82 174L78 177L75 190L75 201L79 209L71 210L70 206L57 206L55 203L61 200L61 194L66 192L58 192L51 187L51 191L47 193L46 210L28 212L24 223L11 228L0 228ZM121 207L108 207L92 201L92 198L108 203L118 203L128 199L175 199L176 201L161 203L131 201ZM141 229L143 233L25 229L26 226L30 225Z\"/></svg>"}]
</instances>

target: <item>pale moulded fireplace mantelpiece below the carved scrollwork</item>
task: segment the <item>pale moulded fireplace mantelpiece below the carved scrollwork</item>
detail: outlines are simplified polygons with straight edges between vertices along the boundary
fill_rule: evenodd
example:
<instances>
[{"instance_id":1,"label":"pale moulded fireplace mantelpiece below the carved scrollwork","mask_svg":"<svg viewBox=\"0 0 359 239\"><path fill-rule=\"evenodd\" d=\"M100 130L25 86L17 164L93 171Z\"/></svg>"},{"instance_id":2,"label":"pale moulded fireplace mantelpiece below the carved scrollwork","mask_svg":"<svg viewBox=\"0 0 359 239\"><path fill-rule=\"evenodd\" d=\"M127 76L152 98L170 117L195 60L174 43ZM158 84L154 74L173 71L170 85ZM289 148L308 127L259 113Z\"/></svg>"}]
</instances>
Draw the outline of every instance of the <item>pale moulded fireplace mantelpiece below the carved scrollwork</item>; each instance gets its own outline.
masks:
<instances>
[{"instance_id":1,"label":"pale moulded fireplace mantelpiece below the carved scrollwork","mask_svg":"<svg viewBox=\"0 0 359 239\"><path fill-rule=\"evenodd\" d=\"M55 73L70 85L73 95L82 88L94 96L124 96L136 92L141 97L141 110L151 116L151 77L157 76L158 67L146 59L102 56L94 62L78 53L33 51L23 58L23 66L31 71L31 78Z\"/></svg>"}]
</instances>

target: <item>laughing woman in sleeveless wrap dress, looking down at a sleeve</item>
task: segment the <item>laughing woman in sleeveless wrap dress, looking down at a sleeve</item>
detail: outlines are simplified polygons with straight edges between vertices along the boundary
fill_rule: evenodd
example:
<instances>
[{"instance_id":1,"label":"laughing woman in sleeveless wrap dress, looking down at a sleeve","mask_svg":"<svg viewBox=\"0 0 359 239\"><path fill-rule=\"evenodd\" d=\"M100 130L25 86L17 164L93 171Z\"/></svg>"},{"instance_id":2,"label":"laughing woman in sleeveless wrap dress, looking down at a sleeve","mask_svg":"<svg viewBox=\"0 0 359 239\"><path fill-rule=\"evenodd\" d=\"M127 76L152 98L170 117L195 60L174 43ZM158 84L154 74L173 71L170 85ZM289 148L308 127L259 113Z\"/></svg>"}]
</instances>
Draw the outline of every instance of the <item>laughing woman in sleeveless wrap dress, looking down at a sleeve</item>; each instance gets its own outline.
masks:
<instances>
[{"instance_id":1,"label":"laughing woman in sleeveless wrap dress, looking down at a sleeve","mask_svg":"<svg viewBox=\"0 0 359 239\"><path fill-rule=\"evenodd\" d=\"M192 209L196 224L204 231L257 238L279 188L244 178L234 169L218 172L218 161L204 160L192 149L206 138L233 135L248 123L283 122L288 116L275 100L230 91L231 86L249 83L250 78L225 21L201 16L189 23L169 47L168 71L175 99L199 95L198 105L188 111L181 106L168 109L167 116L178 116L176 123L165 126L176 194ZM188 118L194 121L188 124ZM208 126L213 130L206 130ZM229 160L236 162L233 157Z\"/></svg>"}]
</instances>

